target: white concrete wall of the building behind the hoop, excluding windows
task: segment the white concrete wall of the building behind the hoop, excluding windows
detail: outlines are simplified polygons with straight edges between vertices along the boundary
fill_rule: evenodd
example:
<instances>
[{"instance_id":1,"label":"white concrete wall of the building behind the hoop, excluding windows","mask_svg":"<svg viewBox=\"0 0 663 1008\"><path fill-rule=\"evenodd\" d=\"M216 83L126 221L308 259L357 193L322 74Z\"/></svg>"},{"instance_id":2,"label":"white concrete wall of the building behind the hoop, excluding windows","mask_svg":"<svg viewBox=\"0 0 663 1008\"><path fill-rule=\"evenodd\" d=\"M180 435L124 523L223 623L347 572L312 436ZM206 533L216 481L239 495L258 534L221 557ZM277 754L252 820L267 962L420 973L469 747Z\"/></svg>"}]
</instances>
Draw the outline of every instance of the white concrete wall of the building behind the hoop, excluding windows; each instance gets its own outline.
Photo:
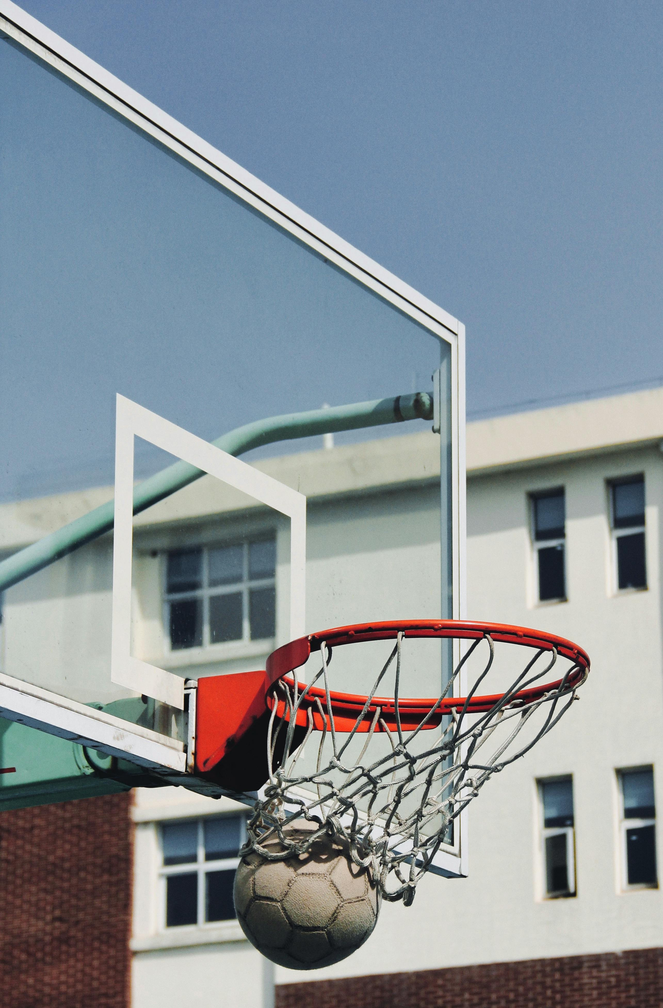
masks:
<instances>
[{"instance_id":1,"label":"white concrete wall of the building behind the hoop, excluding windows","mask_svg":"<svg viewBox=\"0 0 663 1008\"><path fill-rule=\"evenodd\" d=\"M588 651L591 676L579 703L554 731L524 760L491 780L473 803L469 879L423 880L411 908L383 906L374 935L355 956L309 974L278 969L277 983L663 946L660 890L621 892L618 870L616 769L653 764L658 808L663 814L663 456L658 449L663 431L658 416L663 413L658 410L660 392L658 397L642 396L640 412L640 400L624 397L629 402L625 406L628 429L623 436L618 400L600 403L593 411L591 404L583 404L581 409L562 407L557 412L542 411L545 416L527 414L471 427L469 465L475 475L468 494L469 616L529 624L570 637ZM473 437L479 438L474 448ZM629 438L637 443L614 447ZM421 485L422 479L434 476L432 440L426 435L393 438L376 443L377 448L366 444L309 453L296 463L289 459L264 464L272 475L280 474L294 485L300 480L311 497L311 629L376 616L437 614L438 599L429 586L436 584L437 577L438 512ZM551 457L547 461L537 458L537 452L543 451ZM649 587L645 592L615 594L606 481L641 472L646 480ZM391 489L385 492L389 484ZM568 601L537 605L527 495L562 485ZM170 514L166 509L159 522L150 525L144 518L140 523L138 568L141 556L145 566L136 580L136 646L146 652L158 650L161 632L158 587L154 589L157 564L150 571L150 548L164 548L168 537L179 535L184 519L191 536L214 536L219 522L228 521L232 512L230 504L231 512L224 512L228 502L204 483L201 486L207 514L201 501L191 497L185 513ZM335 497L335 486L355 496ZM69 515L79 505L69 501L68 507ZM16 518L16 535L23 534L28 511L23 508L18 515L22 523ZM60 514L54 506L51 511ZM29 512L35 534L48 530L48 520L56 520L48 518L48 508L46 512L43 520ZM249 519L236 512L233 520ZM250 520L260 524L264 515L256 512ZM279 538L279 562L285 564L282 546ZM36 607L30 624L37 628L34 649L19 657L27 665L36 656L43 674L48 663L46 634L69 627L72 647L79 656L89 648L94 659L95 633L101 639L107 632L103 612L96 608L107 599L107 560L95 554L96 580L91 581L92 560L93 554L86 559L82 553L82 565L68 568L65 577L53 569L51 581L38 584L35 580L32 588L22 590L23 595L18 590L8 593L5 641L11 620L24 619L30 606ZM279 571L283 579L285 566ZM53 596L57 600L62 593L79 607L70 623L62 618L61 603L52 602ZM281 612L278 637L285 633L283 627ZM26 632L22 633L27 640ZM8 650L5 660L11 654ZM193 674L238 670L259 667L262 660L264 655L259 654L213 661L203 658L190 670ZM17 663L12 669L19 667ZM577 896L542 900L535 780L557 774L573 776ZM179 946L173 944L176 936L158 933L150 890L155 872L155 834L150 824L164 814L203 814L191 803L201 800L181 789L138 795L134 1008L157 1003L165 1008L184 1000L205 1003L206 1008L265 1003L263 961L242 939L237 925L215 934L209 931L206 940L193 936ZM214 802L206 805L212 812L219 807ZM661 871L660 827L658 851Z\"/></svg>"}]
</instances>

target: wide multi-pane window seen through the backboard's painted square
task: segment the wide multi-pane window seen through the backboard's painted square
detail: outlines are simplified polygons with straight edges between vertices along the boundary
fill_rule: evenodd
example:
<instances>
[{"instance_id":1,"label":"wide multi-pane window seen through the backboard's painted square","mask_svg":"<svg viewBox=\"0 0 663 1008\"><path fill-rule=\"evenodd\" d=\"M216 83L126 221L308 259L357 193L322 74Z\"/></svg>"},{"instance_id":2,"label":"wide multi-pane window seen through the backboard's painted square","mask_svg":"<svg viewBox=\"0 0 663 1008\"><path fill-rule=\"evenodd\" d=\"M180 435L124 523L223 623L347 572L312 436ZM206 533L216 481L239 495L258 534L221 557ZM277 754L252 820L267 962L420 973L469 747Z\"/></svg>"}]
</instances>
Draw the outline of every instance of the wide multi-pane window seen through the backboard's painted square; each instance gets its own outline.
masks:
<instances>
[{"instance_id":1,"label":"wide multi-pane window seen through the backboard's painted square","mask_svg":"<svg viewBox=\"0 0 663 1008\"><path fill-rule=\"evenodd\" d=\"M170 649L273 637L275 569L274 539L169 552L165 622Z\"/></svg>"}]
</instances>

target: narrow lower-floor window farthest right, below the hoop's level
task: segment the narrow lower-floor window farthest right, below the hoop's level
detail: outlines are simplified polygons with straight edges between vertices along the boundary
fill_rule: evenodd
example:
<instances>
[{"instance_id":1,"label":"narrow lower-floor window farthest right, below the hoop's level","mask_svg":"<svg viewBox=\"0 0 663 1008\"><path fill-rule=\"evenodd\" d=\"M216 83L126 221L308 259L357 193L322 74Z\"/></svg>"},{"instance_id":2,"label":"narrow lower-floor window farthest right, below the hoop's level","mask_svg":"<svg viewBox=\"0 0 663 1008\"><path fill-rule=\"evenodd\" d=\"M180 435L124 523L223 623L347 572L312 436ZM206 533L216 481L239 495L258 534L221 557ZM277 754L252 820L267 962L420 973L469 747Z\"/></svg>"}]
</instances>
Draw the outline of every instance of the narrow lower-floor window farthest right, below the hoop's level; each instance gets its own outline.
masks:
<instances>
[{"instance_id":1,"label":"narrow lower-floor window farthest right, below the hoop's level","mask_svg":"<svg viewBox=\"0 0 663 1008\"><path fill-rule=\"evenodd\" d=\"M654 771L622 770L619 778L622 884L625 889L654 888L658 885Z\"/></svg>"}]
</instances>

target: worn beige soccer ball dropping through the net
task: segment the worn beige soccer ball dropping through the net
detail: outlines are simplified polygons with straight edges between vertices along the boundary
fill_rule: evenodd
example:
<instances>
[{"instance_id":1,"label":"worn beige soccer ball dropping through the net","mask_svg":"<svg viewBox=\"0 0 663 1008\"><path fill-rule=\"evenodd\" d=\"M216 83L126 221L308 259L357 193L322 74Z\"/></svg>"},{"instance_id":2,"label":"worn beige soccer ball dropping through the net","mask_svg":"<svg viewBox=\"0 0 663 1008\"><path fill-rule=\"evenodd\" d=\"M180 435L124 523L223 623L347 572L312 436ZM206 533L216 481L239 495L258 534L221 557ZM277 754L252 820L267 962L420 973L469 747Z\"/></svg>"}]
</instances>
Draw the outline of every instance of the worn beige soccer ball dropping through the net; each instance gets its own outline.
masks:
<instances>
[{"instance_id":1,"label":"worn beige soccer ball dropping through the net","mask_svg":"<svg viewBox=\"0 0 663 1008\"><path fill-rule=\"evenodd\" d=\"M299 842L311 829L302 822L283 832ZM263 846L274 853L284 849L278 837ZM380 891L369 873L353 863L345 841L328 836L284 861L247 855L235 875L234 896L249 941L291 970L317 970L352 955L380 910Z\"/></svg>"}]
</instances>

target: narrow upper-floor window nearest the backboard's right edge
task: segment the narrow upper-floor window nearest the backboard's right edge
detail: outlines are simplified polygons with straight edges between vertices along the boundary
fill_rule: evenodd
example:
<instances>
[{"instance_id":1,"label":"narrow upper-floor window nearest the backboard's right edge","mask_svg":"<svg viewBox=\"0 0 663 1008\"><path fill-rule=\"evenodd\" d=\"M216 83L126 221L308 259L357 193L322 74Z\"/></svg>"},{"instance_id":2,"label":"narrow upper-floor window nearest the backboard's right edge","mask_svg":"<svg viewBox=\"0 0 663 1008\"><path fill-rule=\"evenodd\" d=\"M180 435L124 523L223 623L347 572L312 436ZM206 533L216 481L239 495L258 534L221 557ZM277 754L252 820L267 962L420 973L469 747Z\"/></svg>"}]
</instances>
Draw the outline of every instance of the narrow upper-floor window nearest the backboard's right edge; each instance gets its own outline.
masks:
<instances>
[{"instance_id":1,"label":"narrow upper-floor window nearest the backboard's right edge","mask_svg":"<svg viewBox=\"0 0 663 1008\"><path fill-rule=\"evenodd\" d=\"M562 602L566 599L564 491L533 494L531 505L538 600Z\"/></svg>"}]
</instances>

